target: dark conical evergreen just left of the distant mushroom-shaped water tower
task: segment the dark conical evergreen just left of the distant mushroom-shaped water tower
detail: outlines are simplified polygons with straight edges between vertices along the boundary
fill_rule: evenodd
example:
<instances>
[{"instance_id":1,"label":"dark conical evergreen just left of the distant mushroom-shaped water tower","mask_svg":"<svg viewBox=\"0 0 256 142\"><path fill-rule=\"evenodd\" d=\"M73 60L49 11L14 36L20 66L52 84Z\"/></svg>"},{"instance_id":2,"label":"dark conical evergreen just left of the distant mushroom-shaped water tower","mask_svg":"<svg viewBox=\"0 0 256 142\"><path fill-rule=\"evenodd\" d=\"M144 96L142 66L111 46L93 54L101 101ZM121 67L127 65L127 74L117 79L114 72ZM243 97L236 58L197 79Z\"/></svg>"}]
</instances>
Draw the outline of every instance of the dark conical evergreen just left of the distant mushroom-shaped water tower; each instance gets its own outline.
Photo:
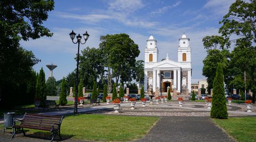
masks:
<instances>
[{"instance_id":1,"label":"dark conical evergreen just left of the distant mushroom-shaped water tower","mask_svg":"<svg viewBox=\"0 0 256 142\"><path fill-rule=\"evenodd\" d=\"M41 98L41 101L46 100L46 85L45 85L45 73L43 67L40 69L40 73L37 79L36 86L36 98Z\"/></svg>"}]
</instances>

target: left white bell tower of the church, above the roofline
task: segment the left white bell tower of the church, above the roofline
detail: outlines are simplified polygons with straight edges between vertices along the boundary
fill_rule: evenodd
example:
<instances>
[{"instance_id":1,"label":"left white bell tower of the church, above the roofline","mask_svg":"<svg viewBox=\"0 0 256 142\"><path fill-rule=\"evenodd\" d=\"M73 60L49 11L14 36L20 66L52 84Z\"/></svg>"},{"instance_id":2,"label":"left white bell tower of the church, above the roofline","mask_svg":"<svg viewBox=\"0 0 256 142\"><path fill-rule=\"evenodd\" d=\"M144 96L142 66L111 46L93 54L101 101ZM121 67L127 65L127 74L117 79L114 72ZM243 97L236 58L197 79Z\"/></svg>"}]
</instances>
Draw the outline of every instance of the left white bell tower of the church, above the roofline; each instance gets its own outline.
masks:
<instances>
[{"instance_id":1,"label":"left white bell tower of the church, above the roofline","mask_svg":"<svg viewBox=\"0 0 256 142\"><path fill-rule=\"evenodd\" d=\"M147 40L147 47L145 48L145 63L155 63L158 62L158 49L156 47L157 41L154 39L151 33L149 39Z\"/></svg>"}]
</instances>

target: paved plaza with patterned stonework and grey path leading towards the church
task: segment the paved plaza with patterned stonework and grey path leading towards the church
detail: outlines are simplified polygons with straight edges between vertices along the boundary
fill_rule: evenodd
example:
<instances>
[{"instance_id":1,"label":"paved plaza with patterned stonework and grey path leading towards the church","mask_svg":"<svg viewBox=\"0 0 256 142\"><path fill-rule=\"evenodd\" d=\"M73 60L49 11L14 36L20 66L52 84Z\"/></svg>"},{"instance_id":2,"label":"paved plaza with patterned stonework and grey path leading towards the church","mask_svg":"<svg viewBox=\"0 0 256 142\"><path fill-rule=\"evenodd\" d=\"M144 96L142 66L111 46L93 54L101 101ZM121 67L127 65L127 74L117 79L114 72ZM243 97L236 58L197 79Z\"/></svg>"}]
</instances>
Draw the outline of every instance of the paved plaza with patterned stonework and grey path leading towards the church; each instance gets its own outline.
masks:
<instances>
[{"instance_id":1,"label":"paved plaza with patterned stonework and grey path leading towards the church","mask_svg":"<svg viewBox=\"0 0 256 142\"><path fill-rule=\"evenodd\" d=\"M228 105L229 117L256 116L255 106L252 113L246 112L245 104L232 103ZM45 115L66 115L73 113L73 107L61 107L59 110L44 112ZM214 125L210 119L210 109L203 102L184 101L183 107L179 107L177 101L168 101L159 104L146 103L142 107L141 102L137 102L135 110L130 109L130 103L121 103L119 112L114 113L113 105L102 103L97 106L88 104L79 107L79 113L84 114L105 114L105 115L128 115L128 116L159 116L159 121L152 127L148 134L134 141L235 141L221 128ZM19 116L21 117L21 116ZM3 122L3 121L2 121ZM182 136L181 136L182 135ZM10 139L11 134L0 134L0 141L49 141L42 137L33 135L23 136L18 134L14 139ZM55 140L58 140L57 137ZM62 141L82 141L74 139L64 139Z\"/></svg>"}]
</instances>

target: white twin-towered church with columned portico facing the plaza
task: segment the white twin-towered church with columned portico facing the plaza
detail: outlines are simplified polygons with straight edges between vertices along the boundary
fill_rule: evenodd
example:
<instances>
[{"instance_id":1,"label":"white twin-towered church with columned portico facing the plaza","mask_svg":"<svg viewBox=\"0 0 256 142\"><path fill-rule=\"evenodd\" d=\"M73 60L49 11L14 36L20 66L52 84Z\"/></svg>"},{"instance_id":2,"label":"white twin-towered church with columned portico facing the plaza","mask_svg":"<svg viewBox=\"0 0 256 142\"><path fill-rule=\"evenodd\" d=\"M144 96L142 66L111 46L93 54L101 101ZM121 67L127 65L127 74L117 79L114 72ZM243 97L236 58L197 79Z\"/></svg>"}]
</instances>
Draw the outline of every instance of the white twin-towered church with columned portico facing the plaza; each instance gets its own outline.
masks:
<instances>
[{"instance_id":1,"label":"white twin-towered church with columned portico facing the plaza","mask_svg":"<svg viewBox=\"0 0 256 142\"><path fill-rule=\"evenodd\" d=\"M173 52L170 47L170 51ZM177 90L179 94L191 92L191 47L189 38L183 33L179 39L178 61L169 59L168 54L165 60L159 61L157 41L151 34L145 48L144 68L144 91L155 92L155 94L167 94L168 86Z\"/></svg>"}]
</instances>

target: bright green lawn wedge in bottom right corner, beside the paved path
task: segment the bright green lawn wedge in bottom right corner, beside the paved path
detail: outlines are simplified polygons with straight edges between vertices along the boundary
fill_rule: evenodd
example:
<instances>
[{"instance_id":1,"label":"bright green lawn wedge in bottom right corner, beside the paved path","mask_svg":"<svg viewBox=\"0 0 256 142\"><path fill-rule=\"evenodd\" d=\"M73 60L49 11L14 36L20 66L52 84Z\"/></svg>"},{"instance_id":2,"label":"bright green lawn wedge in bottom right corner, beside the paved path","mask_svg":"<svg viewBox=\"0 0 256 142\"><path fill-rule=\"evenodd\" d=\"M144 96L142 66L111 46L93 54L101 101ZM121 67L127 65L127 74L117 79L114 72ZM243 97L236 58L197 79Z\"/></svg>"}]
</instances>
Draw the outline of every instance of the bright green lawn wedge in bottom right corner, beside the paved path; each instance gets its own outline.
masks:
<instances>
[{"instance_id":1,"label":"bright green lawn wedge in bottom right corner, beside the paved path","mask_svg":"<svg viewBox=\"0 0 256 142\"><path fill-rule=\"evenodd\" d=\"M230 117L229 119L213 119L237 141L256 141L256 117Z\"/></svg>"}]
</instances>

